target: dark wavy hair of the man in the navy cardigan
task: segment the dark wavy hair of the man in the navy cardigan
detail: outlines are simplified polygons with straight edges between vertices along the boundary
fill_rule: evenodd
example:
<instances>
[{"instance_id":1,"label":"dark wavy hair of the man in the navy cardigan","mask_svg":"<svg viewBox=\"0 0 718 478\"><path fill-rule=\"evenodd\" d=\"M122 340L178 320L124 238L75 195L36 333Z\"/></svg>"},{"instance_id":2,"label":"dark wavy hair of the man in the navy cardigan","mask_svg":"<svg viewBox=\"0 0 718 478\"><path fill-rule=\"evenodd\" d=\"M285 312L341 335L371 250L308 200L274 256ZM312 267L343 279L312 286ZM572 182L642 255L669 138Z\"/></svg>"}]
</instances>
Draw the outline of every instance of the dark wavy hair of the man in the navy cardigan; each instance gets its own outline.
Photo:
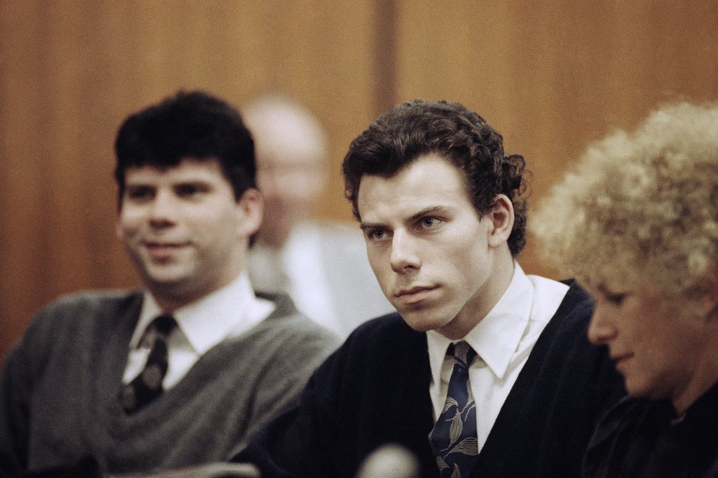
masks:
<instances>
[{"instance_id":1,"label":"dark wavy hair of the man in the navy cardigan","mask_svg":"<svg viewBox=\"0 0 718 478\"><path fill-rule=\"evenodd\" d=\"M393 177L430 153L443 156L462 172L480 216L496 196L511 200L515 220L508 247L513 256L520 253L526 245L526 160L518 154L506 156L501 133L460 103L416 99L394 106L352 141L342 172L355 217L360 219L357 195L365 174Z\"/></svg>"}]
</instances>

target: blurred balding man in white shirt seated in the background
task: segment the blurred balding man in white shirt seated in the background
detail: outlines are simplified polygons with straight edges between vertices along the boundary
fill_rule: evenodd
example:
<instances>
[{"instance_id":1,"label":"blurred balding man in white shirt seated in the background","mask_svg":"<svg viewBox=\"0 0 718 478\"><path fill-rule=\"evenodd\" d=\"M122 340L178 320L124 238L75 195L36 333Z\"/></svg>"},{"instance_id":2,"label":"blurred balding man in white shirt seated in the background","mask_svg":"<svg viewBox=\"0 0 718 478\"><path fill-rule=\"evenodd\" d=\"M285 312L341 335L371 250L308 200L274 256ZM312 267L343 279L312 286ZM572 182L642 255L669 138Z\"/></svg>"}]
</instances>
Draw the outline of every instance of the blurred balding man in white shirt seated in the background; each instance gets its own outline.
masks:
<instances>
[{"instance_id":1,"label":"blurred balding man in white shirt seated in the background","mask_svg":"<svg viewBox=\"0 0 718 478\"><path fill-rule=\"evenodd\" d=\"M264 220L249 254L255 288L289 294L300 311L342 336L392 311L371 273L360 230L311 220L328 175L320 123L279 95L259 98L242 116L255 141L264 197Z\"/></svg>"}]
</instances>

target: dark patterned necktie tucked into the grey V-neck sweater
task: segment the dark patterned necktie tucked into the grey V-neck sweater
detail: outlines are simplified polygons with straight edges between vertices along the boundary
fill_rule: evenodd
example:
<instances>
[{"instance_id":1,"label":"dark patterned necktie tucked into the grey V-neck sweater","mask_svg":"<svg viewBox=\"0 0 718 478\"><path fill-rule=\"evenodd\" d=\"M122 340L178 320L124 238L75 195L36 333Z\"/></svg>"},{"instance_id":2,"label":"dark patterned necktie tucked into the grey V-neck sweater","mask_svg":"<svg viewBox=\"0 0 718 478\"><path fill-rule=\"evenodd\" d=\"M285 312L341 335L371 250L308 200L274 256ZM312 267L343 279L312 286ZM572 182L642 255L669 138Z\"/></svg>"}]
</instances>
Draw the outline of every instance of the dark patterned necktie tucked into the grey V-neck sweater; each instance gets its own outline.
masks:
<instances>
[{"instance_id":1,"label":"dark patterned necktie tucked into the grey V-neck sweater","mask_svg":"<svg viewBox=\"0 0 718 478\"><path fill-rule=\"evenodd\" d=\"M127 385L123 385L120 400L127 413L133 413L162 393L162 380L167 374L167 336L177 325L171 315L161 315L147 327L154 330L154 344L149 351L144 370Z\"/></svg>"}]
</instances>

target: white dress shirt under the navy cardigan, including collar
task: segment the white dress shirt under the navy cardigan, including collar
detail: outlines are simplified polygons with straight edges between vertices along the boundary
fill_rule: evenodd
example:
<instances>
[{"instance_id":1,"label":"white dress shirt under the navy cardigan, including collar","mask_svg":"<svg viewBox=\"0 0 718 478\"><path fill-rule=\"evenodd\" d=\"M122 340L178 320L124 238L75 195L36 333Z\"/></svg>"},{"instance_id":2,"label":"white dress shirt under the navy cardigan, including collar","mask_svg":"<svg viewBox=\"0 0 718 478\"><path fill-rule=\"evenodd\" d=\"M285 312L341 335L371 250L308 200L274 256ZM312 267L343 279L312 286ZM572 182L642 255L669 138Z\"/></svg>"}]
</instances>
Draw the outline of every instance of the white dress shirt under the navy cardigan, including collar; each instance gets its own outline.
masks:
<instances>
[{"instance_id":1,"label":"white dress shirt under the navy cardigan, including collar","mask_svg":"<svg viewBox=\"0 0 718 478\"><path fill-rule=\"evenodd\" d=\"M477 352L469 368L469 382L476 403L476 429L479 451L493 428L518 373L541 332L564 299L569 287L539 276L527 276L514 263L513 278L498 303L463 340ZM454 367L446 357L450 340L439 332L426 333L432 383L429 386L434 405L434 421L444 408Z\"/></svg>"}]
</instances>

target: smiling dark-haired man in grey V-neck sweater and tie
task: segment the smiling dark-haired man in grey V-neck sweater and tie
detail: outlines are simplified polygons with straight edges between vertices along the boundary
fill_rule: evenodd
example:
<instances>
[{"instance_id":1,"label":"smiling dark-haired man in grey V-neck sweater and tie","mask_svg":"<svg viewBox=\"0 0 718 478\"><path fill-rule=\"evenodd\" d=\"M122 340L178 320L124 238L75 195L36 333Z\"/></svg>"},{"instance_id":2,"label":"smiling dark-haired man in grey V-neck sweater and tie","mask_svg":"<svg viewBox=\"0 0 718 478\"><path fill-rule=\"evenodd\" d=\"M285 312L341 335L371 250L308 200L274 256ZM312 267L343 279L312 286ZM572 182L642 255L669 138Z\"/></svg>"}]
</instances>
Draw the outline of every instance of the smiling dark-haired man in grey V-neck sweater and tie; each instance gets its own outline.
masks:
<instances>
[{"instance_id":1,"label":"smiling dark-haired man in grey V-neck sweater and tie","mask_svg":"<svg viewBox=\"0 0 718 478\"><path fill-rule=\"evenodd\" d=\"M0 382L0 476L228 459L337 345L252 289L262 200L235 108L177 93L127 118L116 154L117 234L144 288L66 296L30 324Z\"/></svg>"}]
</instances>

